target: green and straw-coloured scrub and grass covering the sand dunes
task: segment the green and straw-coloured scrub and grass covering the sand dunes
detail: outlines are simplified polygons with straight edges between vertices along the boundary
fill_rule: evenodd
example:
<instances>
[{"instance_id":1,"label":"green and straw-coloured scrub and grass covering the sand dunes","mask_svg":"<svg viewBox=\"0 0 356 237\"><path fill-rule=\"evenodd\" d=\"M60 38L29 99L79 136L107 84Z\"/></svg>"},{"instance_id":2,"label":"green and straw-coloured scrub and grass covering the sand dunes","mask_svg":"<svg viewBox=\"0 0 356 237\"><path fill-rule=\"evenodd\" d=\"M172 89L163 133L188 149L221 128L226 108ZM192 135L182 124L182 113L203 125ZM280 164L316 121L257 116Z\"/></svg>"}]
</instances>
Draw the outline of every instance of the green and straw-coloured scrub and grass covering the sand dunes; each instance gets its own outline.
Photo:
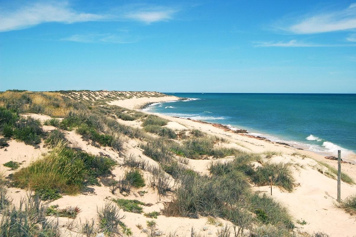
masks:
<instances>
[{"instance_id":1,"label":"green and straw-coloured scrub and grass covering the sand dunes","mask_svg":"<svg viewBox=\"0 0 356 237\"><path fill-rule=\"evenodd\" d=\"M75 207L61 209L48 203L64 195L85 193L88 187L104 184L108 176L114 178L104 187L113 195L119 190L116 194L120 193L120 198L98 206L95 220L78 224L80 234L88 237L99 232L106 236L132 235L131 228L123 222L125 216L119 214L122 209L150 218L147 228L136 225L150 237L162 235L156 230L156 221L152 220L159 220L161 216L206 217L217 226L220 223L216 218L232 223L233 227L226 225L219 229L219 237L230 236L233 232L230 228L235 230L235 237L295 236L295 219L288 209L271 196L252 189L253 185L269 185L272 179L274 186L293 192L296 184L291 164L270 161L279 153L257 154L228 148L219 145L227 143L226 139L197 129L175 131L164 127L169 122L167 119L108 105L105 102L114 97L97 98L96 93L84 92L0 93L0 134L35 147L42 143L49 149L42 158L21 169L14 162L4 164L14 170L7 177L7 186L30 193L20 206L16 206L2 185L1 236L61 236L58 222L49 217L75 218L80 210ZM31 115L24 116L25 113L51 118L41 122ZM140 127L126 125L121 120L137 121ZM54 129L45 131L44 125ZM94 147L114 151L122 157L122 162L109 155L91 154L71 144L66 136L68 132L75 132ZM125 145L128 140L135 141L150 162L128 153ZM230 159L218 160L226 157ZM202 174L189 166L190 159L212 159L214 162L209 164L209 173ZM256 167L254 163L259 165ZM115 178L112 170L118 167L125 172L122 177ZM132 190L142 187L150 187L159 195L159 200L162 198L161 210L144 213L147 203L133 200L132 196L125 198ZM143 198L148 195L146 193L138 192ZM350 210L350 200L345 200L340 207ZM191 234L195 236L193 230Z\"/></svg>"}]
</instances>

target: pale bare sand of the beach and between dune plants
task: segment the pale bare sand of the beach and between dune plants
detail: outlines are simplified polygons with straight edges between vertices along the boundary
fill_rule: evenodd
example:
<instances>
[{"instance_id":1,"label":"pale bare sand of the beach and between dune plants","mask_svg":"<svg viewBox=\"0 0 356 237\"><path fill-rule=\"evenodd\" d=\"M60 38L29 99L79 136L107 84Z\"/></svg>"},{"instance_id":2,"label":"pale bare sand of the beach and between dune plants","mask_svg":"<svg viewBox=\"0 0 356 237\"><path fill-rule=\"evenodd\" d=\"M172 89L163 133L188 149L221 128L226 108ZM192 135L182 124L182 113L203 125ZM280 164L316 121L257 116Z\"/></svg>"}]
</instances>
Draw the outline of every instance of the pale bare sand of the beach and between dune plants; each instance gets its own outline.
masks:
<instances>
[{"instance_id":1,"label":"pale bare sand of the beach and between dune plants","mask_svg":"<svg viewBox=\"0 0 356 237\"><path fill-rule=\"evenodd\" d=\"M142 108L147 104L166 102L166 101L176 101L178 97L174 96L162 96L162 97L135 97L120 100L108 101L109 105L117 105L127 109L134 109L136 111L142 111L137 108ZM100 105L103 106L103 105ZM150 114L147 112L147 114ZM35 119L46 121L51 118L43 114L27 113L23 116L30 116ZM269 158L270 163L284 163L291 164L291 169L293 177L295 179L295 186L292 192L288 192L281 189L278 186L272 186L272 198L277 200L286 206L293 216L295 223L294 232L309 233L314 232L324 232L330 236L345 236L352 237L356 233L356 218L346 213L343 209L335 207L336 202L336 185L337 181L331 177L325 175L326 168L321 166L318 161L324 162L334 168L337 168L337 161L325 159L322 154L315 153L313 151L300 150L292 146L286 146L282 144L275 143L273 141L260 140L253 138L252 136L246 136L245 134L235 133L232 130L221 128L219 126L201 123L198 121L169 117L165 115L158 115L159 117L169 120L167 125L163 127L170 128L176 132L181 130L192 130L199 129L202 132L223 138L226 140L225 143L218 143L218 146L223 146L226 148L235 148L241 151L246 151L247 153L258 153L264 154L268 151L276 152ZM115 117L115 116L113 116ZM122 120L120 118L115 119L120 124L128 125L132 128L142 128L142 122L140 120ZM43 129L50 132L55 127L51 125L43 125ZM94 146L88 140L84 140L83 137L75 132L75 130L64 131L66 138L70 144L81 148L83 151L91 154L101 154L109 156L115 159L119 164L123 163L125 156L136 156L142 161L147 162L152 166L159 166L159 164L143 154L143 149L140 148L141 140L136 138L125 137L124 149L125 155L114 151L109 146ZM153 137L157 136L152 134ZM50 149L40 144L40 149L34 149L31 145L26 145L17 140L10 140L9 146L5 149L0 149L1 163L4 164L8 161L18 161L21 163L20 168L24 168L30 165L32 162L41 159L45 156ZM209 175L208 167L212 163L224 162L232 160L232 157L213 159L188 159L187 167L190 169L200 172L201 174ZM256 164L258 165L258 164ZM0 166L1 172L8 176L14 171L5 167ZM342 170L347 173L350 177L356 180L356 166L348 163L342 163ZM119 179L125 175L125 172L129 168L125 166L115 166L112 170L112 179ZM323 174L324 173L324 174ZM150 180L152 174L147 171L143 171L143 176L146 180ZM172 180L172 185L174 181ZM118 192L115 194L111 193L108 186L90 186L93 192L88 192L78 195L63 195L62 198L49 202L49 205L58 205L60 208L66 207L78 207L80 212L75 218L75 222L78 223L80 220L90 220L91 218L96 219L97 208L103 207L105 203L112 203L113 199L125 198L125 199L135 199L142 201L144 203L151 203L150 205L143 206L143 212L160 211L164 208L164 203L170 201L172 196L162 197L158 195L157 190L152 189L151 186L146 185L141 190L147 192L145 195L138 195L138 190L131 192L129 195L123 195ZM270 186L252 186L254 191L259 191L270 195ZM27 195L27 191L24 189L19 189L17 187L9 187L8 193L14 200L14 203L19 203L22 197ZM355 194L355 185L350 185L345 182L341 182L341 197L342 199L347 196ZM131 228L133 236L146 236L142 232L140 226L146 226L146 221L152 220L139 213L126 212L122 209L120 210L120 215L124 215L125 225ZM217 218L224 225L232 225L231 222ZM210 236L217 232L219 228L216 225L209 223L208 217L199 216L199 218L188 218L188 217L167 217L164 215L159 215L157 219L158 228L162 233L175 233L177 236L190 236L191 230L200 232L200 235ZM66 229L66 223L68 223L68 218L59 217L59 222L61 225L61 230L66 232L68 236L78 235L84 236L80 233L79 227L73 228L72 230ZM69 235L70 234L70 235Z\"/></svg>"}]
</instances>

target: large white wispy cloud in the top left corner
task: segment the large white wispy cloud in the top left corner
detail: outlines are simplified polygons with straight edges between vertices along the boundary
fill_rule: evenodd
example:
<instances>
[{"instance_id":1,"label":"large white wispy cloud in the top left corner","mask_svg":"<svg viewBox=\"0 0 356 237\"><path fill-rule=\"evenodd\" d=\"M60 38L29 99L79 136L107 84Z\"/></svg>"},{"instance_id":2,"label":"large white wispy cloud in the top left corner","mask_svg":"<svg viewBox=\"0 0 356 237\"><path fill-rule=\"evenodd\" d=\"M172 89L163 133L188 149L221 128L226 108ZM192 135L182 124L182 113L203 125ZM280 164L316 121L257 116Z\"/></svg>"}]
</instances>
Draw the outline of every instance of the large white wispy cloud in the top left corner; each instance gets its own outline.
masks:
<instances>
[{"instance_id":1,"label":"large white wispy cloud in the top left corner","mask_svg":"<svg viewBox=\"0 0 356 237\"><path fill-rule=\"evenodd\" d=\"M25 29L45 22L66 24L104 20L104 15L74 11L67 2L38 2L15 11L0 11L0 31Z\"/></svg>"}]
</instances>

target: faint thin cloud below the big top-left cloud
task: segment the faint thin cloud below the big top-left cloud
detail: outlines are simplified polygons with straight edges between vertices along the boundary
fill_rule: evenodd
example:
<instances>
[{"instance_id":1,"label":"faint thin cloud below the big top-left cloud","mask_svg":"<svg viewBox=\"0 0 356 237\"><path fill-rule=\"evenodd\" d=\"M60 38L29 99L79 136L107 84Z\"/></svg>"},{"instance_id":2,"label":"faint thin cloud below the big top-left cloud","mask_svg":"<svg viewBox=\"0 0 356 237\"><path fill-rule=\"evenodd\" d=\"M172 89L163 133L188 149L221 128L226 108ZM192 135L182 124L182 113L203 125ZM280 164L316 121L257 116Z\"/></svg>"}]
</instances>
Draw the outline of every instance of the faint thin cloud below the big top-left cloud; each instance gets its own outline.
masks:
<instances>
[{"instance_id":1,"label":"faint thin cloud below the big top-left cloud","mask_svg":"<svg viewBox=\"0 0 356 237\"><path fill-rule=\"evenodd\" d=\"M129 37L115 34L83 34L72 35L62 38L63 41L73 41L79 43L134 43L137 40L132 40Z\"/></svg>"}]
</instances>

